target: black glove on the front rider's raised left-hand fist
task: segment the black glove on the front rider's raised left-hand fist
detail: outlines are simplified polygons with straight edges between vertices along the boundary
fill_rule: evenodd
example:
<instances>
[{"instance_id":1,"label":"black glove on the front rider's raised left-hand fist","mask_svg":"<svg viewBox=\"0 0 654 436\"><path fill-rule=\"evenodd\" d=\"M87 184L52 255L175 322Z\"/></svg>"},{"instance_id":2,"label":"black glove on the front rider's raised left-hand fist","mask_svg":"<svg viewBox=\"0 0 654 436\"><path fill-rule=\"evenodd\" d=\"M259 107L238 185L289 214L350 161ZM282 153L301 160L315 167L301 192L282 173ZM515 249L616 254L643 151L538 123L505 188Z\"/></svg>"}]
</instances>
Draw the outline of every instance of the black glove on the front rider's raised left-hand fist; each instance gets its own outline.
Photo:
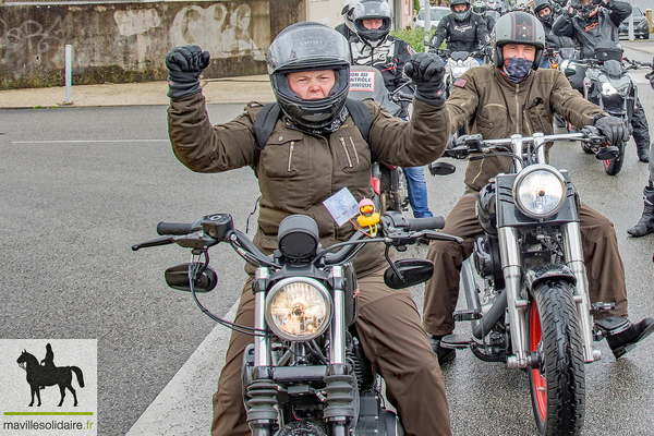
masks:
<instances>
[{"instance_id":1,"label":"black glove on the front rider's raised left-hand fist","mask_svg":"<svg viewBox=\"0 0 654 436\"><path fill-rule=\"evenodd\" d=\"M199 75L209 64L209 52L197 46L175 47L166 55L168 97L184 98L202 92Z\"/></svg>"}]
</instances>

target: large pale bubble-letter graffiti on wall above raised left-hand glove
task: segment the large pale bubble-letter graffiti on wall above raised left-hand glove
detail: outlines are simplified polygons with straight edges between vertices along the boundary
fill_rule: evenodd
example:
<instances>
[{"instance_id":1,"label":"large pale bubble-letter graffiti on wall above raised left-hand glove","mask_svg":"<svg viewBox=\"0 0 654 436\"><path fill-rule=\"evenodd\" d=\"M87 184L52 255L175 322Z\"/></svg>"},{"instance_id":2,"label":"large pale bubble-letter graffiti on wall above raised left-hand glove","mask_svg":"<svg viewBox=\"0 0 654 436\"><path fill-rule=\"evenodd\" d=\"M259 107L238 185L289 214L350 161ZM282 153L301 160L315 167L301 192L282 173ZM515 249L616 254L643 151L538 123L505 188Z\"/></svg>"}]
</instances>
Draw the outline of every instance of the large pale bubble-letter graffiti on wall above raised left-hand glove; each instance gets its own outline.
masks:
<instances>
[{"instance_id":1,"label":"large pale bubble-letter graffiti on wall above raised left-hand glove","mask_svg":"<svg viewBox=\"0 0 654 436\"><path fill-rule=\"evenodd\" d=\"M196 45L214 58L252 56L266 59L265 49L252 39L252 10L241 4L231 13L222 3L208 8L189 5L177 13L170 28L173 47Z\"/></svg>"}]
</instances>

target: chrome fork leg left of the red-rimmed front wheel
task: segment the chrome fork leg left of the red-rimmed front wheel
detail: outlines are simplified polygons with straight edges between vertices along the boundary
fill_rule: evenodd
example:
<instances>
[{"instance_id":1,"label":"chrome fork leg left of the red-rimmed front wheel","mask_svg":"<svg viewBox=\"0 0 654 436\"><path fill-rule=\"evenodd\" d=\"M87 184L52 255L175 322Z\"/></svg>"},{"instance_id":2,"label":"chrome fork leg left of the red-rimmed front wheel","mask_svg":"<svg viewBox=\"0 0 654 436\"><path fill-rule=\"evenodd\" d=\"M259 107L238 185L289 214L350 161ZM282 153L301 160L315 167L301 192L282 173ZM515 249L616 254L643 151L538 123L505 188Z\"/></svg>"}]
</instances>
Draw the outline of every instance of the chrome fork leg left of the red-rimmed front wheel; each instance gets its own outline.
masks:
<instances>
[{"instance_id":1,"label":"chrome fork leg left of the red-rimmed front wheel","mask_svg":"<svg viewBox=\"0 0 654 436\"><path fill-rule=\"evenodd\" d=\"M520 249L518 230L512 227L499 229L499 254L501 258L501 271L505 278L505 292L507 293L507 311L511 331L511 349L513 355L507 359L509 367L524 368L528 365L528 337L524 311L529 305L522 300L520 288L522 283L522 268L520 262Z\"/></svg>"}]
</instances>

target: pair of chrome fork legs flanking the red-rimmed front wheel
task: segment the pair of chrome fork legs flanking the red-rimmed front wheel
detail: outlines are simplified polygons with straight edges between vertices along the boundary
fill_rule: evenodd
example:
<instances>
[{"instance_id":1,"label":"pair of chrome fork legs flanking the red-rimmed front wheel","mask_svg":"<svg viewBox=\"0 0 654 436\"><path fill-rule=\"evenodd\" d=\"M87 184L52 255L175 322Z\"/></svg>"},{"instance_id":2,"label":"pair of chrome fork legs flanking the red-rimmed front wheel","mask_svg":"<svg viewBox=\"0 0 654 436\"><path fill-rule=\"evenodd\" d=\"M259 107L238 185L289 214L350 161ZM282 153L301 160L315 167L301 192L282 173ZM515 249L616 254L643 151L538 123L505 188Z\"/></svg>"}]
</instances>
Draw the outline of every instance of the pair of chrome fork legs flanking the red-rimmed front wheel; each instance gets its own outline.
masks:
<instances>
[{"instance_id":1,"label":"pair of chrome fork legs flanking the red-rimmed front wheel","mask_svg":"<svg viewBox=\"0 0 654 436\"><path fill-rule=\"evenodd\" d=\"M579 222L569 222L562 226L565 241L564 253L566 265L574 272L577 284L573 289L573 299L580 320L581 338L584 361L600 360L600 350L593 350L593 318L591 316L591 302L589 284L583 263L581 247L581 232ZM509 367L525 368L532 364L526 320L529 300L523 299L522 267L519 249L518 230L512 227L499 229L499 251L502 275L507 292L507 313L509 315L511 348L513 355L507 359Z\"/></svg>"}]
</instances>

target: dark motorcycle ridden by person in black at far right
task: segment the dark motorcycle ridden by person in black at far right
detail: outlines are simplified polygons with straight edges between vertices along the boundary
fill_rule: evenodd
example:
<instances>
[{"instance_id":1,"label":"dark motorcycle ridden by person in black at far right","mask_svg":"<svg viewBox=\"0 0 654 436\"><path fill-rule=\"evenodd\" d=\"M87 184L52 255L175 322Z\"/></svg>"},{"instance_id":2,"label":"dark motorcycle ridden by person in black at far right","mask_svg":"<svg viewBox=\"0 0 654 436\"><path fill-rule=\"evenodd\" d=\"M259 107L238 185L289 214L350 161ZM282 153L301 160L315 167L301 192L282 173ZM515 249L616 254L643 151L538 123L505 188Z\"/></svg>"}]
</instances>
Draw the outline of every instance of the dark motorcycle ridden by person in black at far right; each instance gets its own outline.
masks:
<instances>
[{"instance_id":1,"label":"dark motorcycle ridden by person in black at far right","mask_svg":"<svg viewBox=\"0 0 654 436\"><path fill-rule=\"evenodd\" d=\"M618 43L600 43L594 59L568 60L564 62L566 75L574 74L577 68L585 68L583 81L584 98L600 106L609 114L620 118L631 125L631 117L637 105L638 86L629 76L630 70L651 66L649 62L631 61L622 58L622 48ZM616 175L622 169L627 141L620 147L615 159L604 161L604 170ZM585 153L594 154L597 147L582 144Z\"/></svg>"}]
</instances>

